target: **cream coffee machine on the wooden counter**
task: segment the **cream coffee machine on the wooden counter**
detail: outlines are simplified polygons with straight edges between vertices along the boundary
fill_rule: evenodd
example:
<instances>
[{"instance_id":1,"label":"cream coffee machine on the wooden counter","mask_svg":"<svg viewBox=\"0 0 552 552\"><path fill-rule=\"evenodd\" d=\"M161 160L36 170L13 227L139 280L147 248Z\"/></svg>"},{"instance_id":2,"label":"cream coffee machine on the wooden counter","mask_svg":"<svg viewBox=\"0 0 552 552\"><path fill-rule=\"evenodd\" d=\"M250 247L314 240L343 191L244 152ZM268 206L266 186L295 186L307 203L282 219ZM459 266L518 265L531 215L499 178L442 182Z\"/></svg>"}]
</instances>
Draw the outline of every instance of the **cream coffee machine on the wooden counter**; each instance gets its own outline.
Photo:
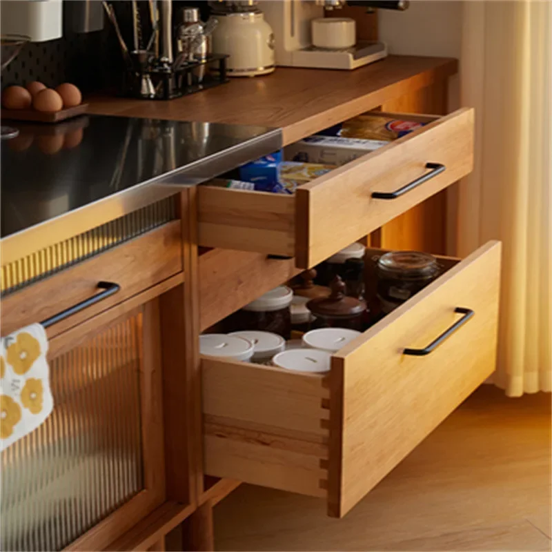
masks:
<instances>
[{"instance_id":1,"label":"cream coffee machine on the wooden counter","mask_svg":"<svg viewBox=\"0 0 552 552\"><path fill-rule=\"evenodd\" d=\"M357 41L355 20L324 17L348 6L405 10L405 0L265 0L262 8L275 35L277 66L356 69L387 55L383 42Z\"/></svg>"}]
</instances>

